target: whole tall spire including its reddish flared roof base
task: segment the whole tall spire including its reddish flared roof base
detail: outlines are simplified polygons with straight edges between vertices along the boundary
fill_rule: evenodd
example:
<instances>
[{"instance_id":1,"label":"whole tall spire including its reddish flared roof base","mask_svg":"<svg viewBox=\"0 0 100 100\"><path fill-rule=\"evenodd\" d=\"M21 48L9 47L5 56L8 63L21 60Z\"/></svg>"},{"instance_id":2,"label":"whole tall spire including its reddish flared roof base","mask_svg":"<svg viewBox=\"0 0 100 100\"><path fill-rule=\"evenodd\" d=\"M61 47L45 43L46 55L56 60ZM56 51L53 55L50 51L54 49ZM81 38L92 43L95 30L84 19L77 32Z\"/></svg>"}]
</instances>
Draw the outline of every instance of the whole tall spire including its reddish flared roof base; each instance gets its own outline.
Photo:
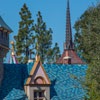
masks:
<instances>
[{"instance_id":1,"label":"whole tall spire including its reddish flared roof base","mask_svg":"<svg viewBox=\"0 0 100 100\"><path fill-rule=\"evenodd\" d=\"M72 30L71 30L71 19L70 19L70 9L69 0L67 0L67 14L66 14L66 39L64 44L64 52L62 56L56 61L56 64L65 65L85 65L77 55L74 50L74 43L72 42Z\"/></svg>"}]
</instances>

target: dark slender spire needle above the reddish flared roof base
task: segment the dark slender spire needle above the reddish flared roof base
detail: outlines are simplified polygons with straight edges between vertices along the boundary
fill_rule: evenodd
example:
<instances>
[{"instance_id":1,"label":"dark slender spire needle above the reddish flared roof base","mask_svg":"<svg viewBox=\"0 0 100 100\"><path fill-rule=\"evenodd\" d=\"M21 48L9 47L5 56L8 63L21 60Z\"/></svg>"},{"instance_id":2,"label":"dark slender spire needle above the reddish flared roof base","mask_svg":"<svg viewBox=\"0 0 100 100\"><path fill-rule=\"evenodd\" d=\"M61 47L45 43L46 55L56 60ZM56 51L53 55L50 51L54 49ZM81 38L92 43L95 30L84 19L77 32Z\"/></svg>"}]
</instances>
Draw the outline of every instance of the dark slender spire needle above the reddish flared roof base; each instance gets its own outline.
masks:
<instances>
[{"instance_id":1,"label":"dark slender spire needle above the reddish flared roof base","mask_svg":"<svg viewBox=\"0 0 100 100\"><path fill-rule=\"evenodd\" d=\"M74 49L74 45L73 45L73 42L72 42L72 30L71 30L69 0L67 0L66 41L65 41L64 49Z\"/></svg>"}]
</instances>

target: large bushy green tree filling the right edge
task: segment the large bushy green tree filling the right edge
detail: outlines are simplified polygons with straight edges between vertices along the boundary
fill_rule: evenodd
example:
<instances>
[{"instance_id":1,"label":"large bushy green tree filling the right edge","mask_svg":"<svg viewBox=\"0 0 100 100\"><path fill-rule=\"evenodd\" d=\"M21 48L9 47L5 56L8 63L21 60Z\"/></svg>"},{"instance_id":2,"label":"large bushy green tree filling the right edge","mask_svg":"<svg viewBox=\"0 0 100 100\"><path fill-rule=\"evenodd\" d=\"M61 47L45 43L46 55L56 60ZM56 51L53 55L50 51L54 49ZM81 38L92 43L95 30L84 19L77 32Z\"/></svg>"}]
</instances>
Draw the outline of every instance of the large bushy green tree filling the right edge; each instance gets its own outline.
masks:
<instances>
[{"instance_id":1,"label":"large bushy green tree filling the right edge","mask_svg":"<svg viewBox=\"0 0 100 100\"><path fill-rule=\"evenodd\" d=\"M88 64L86 100L100 100L100 4L89 7L75 23L76 51Z\"/></svg>"}]
</instances>

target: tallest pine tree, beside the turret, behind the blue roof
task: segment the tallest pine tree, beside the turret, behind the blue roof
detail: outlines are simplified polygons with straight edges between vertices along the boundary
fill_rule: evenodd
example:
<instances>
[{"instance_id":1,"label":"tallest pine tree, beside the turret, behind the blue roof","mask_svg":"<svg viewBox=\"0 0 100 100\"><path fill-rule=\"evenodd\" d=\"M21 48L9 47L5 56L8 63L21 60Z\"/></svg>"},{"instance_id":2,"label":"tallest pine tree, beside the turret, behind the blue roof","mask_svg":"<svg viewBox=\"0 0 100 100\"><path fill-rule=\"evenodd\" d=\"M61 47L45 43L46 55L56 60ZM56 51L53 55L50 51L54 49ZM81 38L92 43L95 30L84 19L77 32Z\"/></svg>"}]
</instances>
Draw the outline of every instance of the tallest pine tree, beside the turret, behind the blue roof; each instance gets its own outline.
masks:
<instances>
[{"instance_id":1,"label":"tallest pine tree, beside the turret, behind the blue roof","mask_svg":"<svg viewBox=\"0 0 100 100\"><path fill-rule=\"evenodd\" d=\"M18 35L15 36L16 41L16 54L19 63L27 63L29 59L29 51L33 54L33 20L31 12L28 10L26 4L23 5L19 12L21 21L19 22Z\"/></svg>"}]
</instances>

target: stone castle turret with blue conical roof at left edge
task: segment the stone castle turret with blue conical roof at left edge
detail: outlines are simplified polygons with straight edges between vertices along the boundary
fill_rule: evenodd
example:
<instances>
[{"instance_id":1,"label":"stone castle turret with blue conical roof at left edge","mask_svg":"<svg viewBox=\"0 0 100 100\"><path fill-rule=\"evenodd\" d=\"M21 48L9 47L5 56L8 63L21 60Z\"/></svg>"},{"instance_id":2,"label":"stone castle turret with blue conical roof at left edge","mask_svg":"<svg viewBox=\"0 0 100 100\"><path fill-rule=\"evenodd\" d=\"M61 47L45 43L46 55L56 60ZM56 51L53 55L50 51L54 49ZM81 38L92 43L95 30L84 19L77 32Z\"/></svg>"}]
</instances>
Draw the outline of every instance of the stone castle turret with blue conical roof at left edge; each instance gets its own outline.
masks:
<instances>
[{"instance_id":1,"label":"stone castle turret with blue conical roof at left edge","mask_svg":"<svg viewBox=\"0 0 100 100\"><path fill-rule=\"evenodd\" d=\"M0 84L3 78L3 58L9 51L9 33L12 30L0 16Z\"/></svg>"}]
</instances>

